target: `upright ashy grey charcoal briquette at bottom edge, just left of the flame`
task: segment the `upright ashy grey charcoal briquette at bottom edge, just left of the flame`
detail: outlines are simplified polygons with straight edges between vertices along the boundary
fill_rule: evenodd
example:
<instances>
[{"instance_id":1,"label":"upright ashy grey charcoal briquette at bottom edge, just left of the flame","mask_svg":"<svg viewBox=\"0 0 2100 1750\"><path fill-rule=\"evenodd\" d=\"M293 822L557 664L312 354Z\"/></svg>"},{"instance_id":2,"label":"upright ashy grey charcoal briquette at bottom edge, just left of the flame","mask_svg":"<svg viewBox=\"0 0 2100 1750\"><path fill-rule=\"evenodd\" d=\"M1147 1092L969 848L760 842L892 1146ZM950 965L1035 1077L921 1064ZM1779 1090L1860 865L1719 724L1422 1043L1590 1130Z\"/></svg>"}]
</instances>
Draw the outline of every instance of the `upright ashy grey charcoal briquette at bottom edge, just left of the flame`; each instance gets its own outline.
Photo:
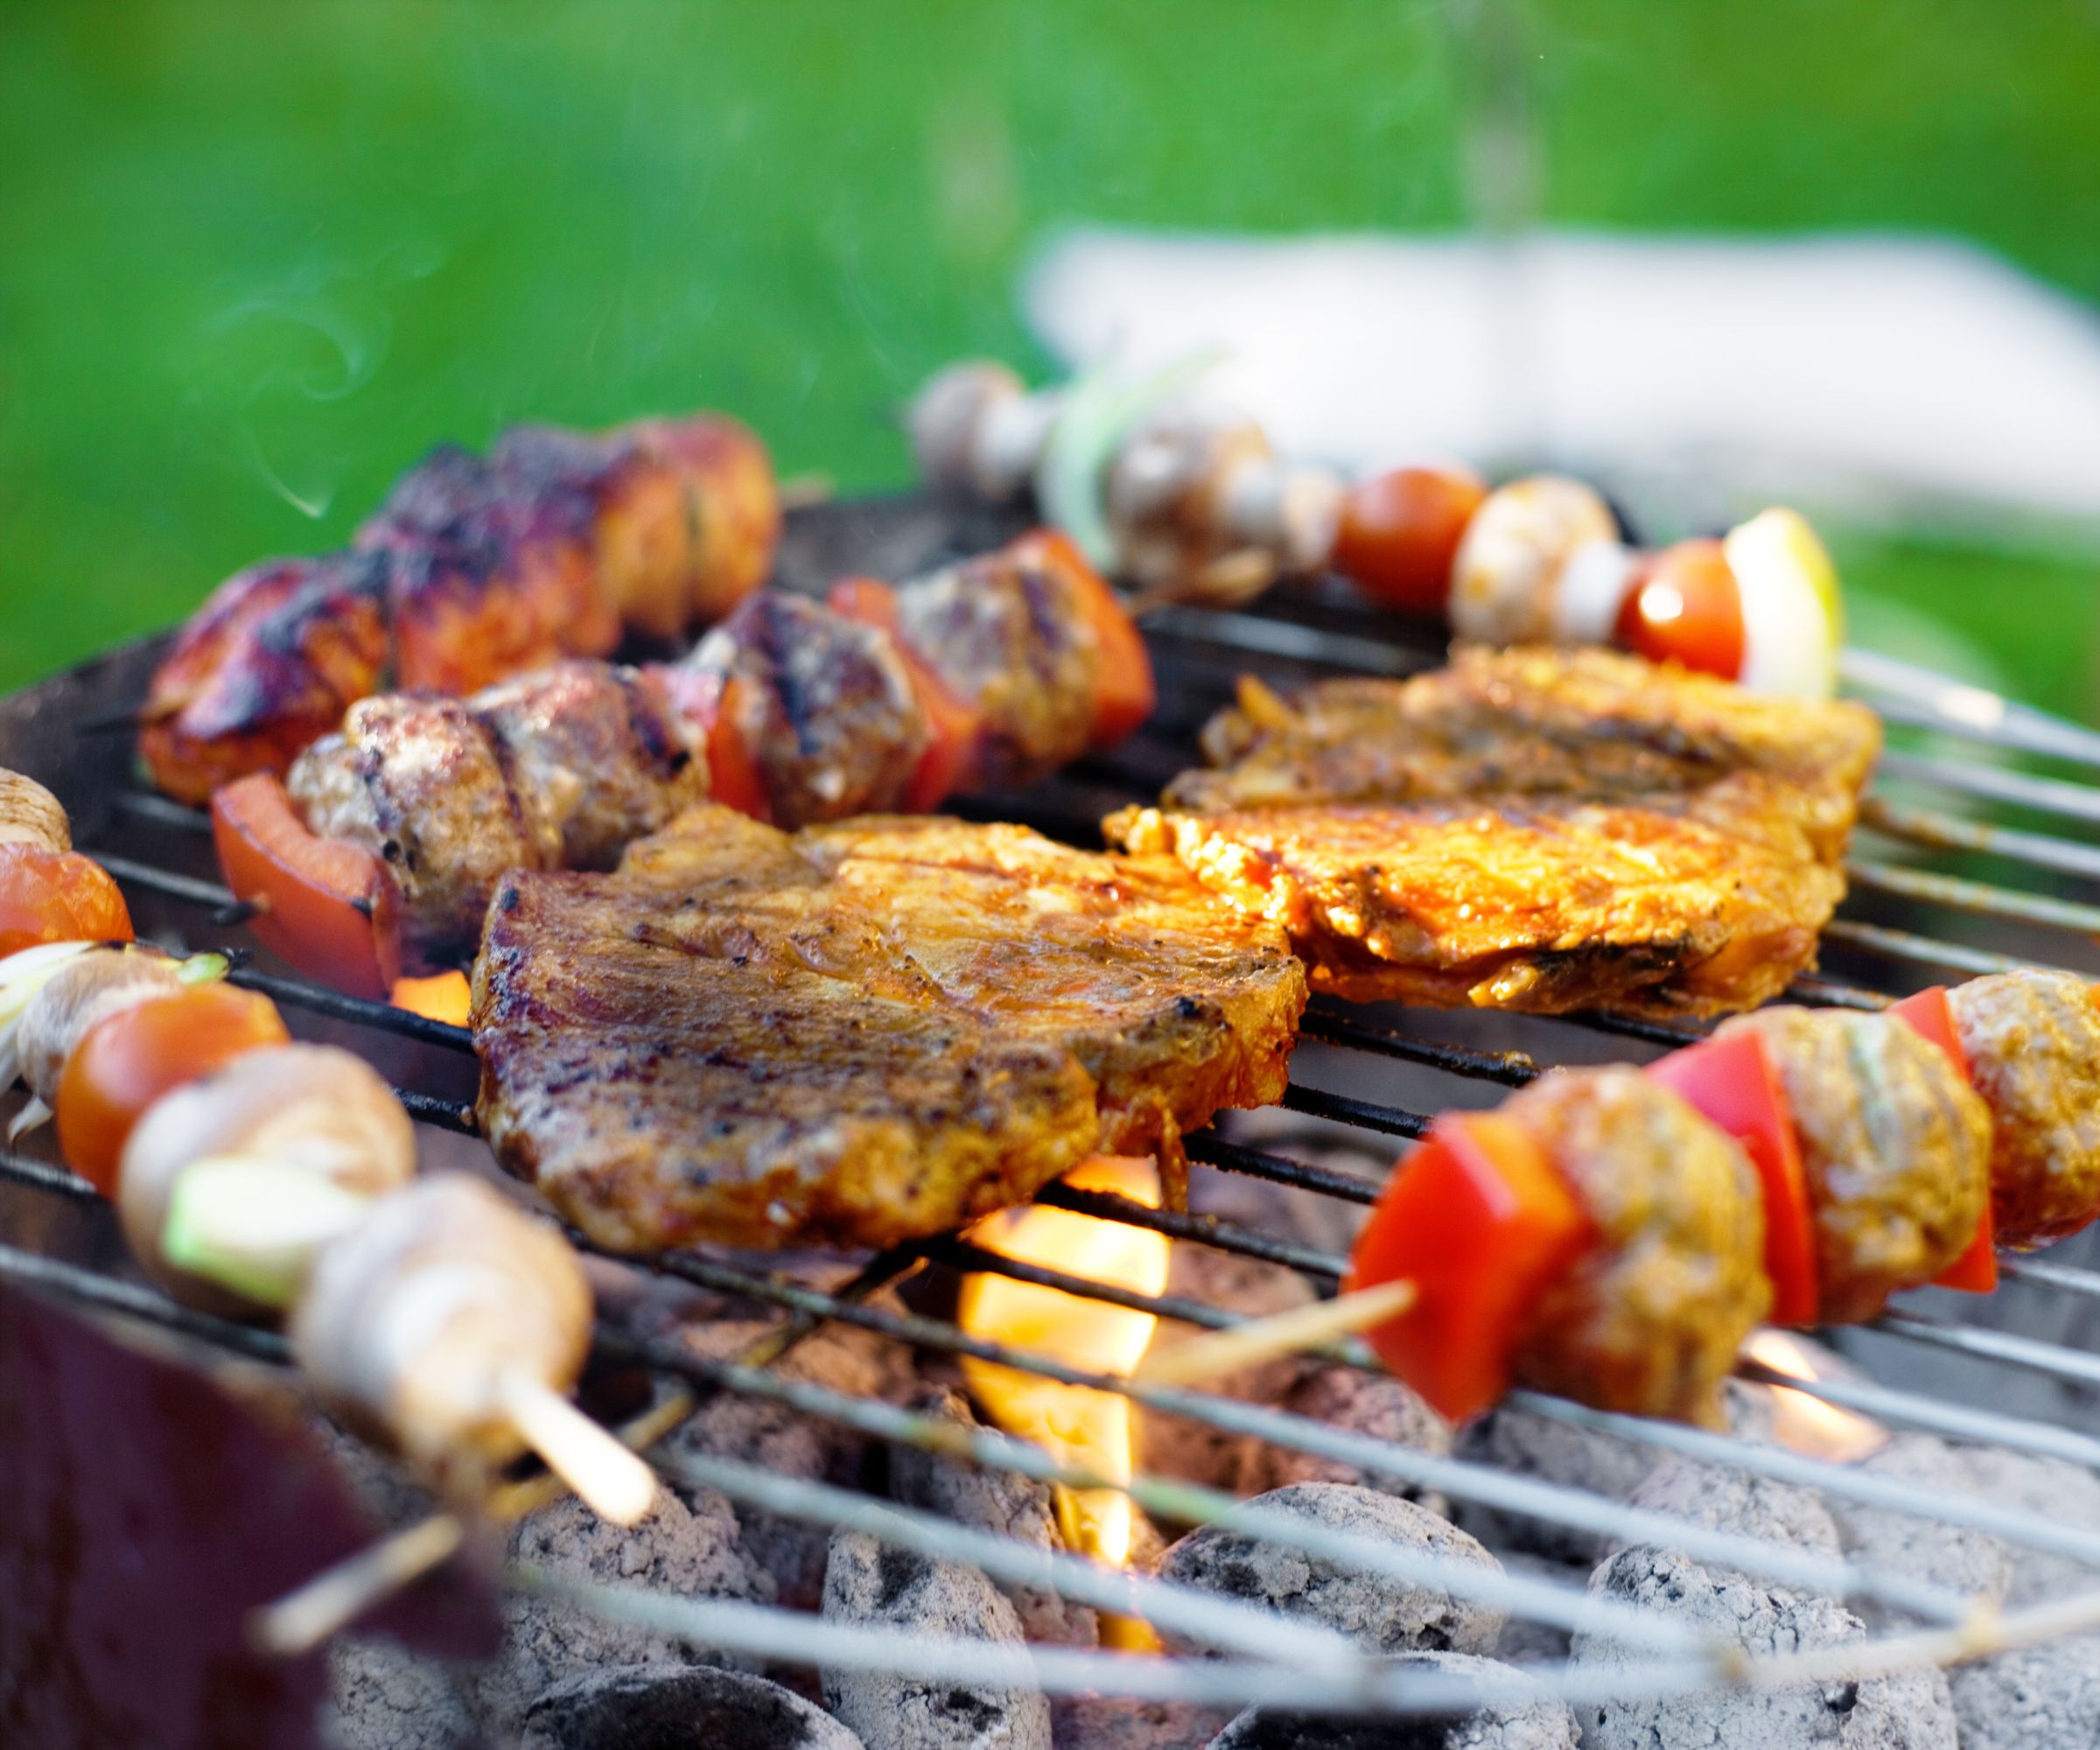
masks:
<instances>
[{"instance_id":1,"label":"upright ashy grey charcoal briquette at bottom edge, just left of the flame","mask_svg":"<svg viewBox=\"0 0 2100 1750\"><path fill-rule=\"evenodd\" d=\"M832 1622L901 1628L926 1639L1021 1645L1021 1618L974 1567L878 1544L859 1532L832 1538L823 1576ZM960 1689L867 1670L827 1670L823 1704L861 1733L867 1750L1050 1750L1050 1704L1033 1689Z\"/></svg>"}]
</instances>

